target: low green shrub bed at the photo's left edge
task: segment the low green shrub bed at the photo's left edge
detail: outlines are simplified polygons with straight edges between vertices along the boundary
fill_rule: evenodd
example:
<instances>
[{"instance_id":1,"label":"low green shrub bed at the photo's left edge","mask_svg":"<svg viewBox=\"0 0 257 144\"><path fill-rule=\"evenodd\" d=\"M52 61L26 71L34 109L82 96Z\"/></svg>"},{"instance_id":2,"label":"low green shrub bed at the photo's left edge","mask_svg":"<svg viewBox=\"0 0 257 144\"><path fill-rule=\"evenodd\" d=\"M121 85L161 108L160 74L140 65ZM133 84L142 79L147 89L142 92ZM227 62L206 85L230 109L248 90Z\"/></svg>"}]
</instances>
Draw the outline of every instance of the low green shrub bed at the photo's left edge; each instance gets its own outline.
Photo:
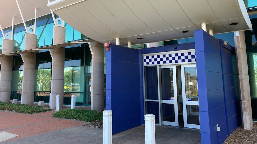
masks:
<instances>
[{"instance_id":1,"label":"low green shrub bed at the photo's left edge","mask_svg":"<svg viewBox=\"0 0 257 144\"><path fill-rule=\"evenodd\" d=\"M7 104L5 102L0 102L0 110L8 110L8 111L15 111L18 113L32 114L32 113L41 113L45 111L50 111L51 109L43 109L40 106L33 107L33 106L24 105L24 104Z\"/></svg>"}]
</instances>

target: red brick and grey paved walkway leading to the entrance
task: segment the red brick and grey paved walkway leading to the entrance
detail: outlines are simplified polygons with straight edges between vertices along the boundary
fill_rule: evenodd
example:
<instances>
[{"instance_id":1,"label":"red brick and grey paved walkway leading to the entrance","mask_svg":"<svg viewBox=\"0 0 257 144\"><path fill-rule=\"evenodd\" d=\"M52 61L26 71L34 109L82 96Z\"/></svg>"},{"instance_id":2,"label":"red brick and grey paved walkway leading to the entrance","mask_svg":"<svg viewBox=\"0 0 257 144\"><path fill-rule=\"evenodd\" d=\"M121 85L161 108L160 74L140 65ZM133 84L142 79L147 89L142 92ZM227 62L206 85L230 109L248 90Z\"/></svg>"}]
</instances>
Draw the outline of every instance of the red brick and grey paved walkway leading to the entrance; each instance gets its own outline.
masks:
<instances>
[{"instance_id":1,"label":"red brick and grey paved walkway leading to the entrance","mask_svg":"<svg viewBox=\"0 0 257 144\"><path fill-rule=\"evenodd\" d=\"M86 127L89 122L52 118L55 111L23 114L0 110L0 132L17 134L3 144L101 144L103 129ZM155 126L158 144L199 144L200 131L172 126ZM144 125L113 135L113 144L145 143Z\"/></svg>"}]
</instances>

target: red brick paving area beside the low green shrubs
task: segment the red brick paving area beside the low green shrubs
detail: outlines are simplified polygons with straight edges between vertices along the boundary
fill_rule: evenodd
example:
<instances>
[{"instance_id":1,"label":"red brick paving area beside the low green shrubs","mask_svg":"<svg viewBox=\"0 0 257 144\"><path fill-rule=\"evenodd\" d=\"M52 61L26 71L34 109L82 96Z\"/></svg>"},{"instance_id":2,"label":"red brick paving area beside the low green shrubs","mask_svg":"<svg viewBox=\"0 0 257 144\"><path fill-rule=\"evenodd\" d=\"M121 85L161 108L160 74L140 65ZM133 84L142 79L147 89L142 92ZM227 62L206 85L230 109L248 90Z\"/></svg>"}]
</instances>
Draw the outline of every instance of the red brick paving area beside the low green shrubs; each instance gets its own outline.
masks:
<instances>
[{"instance_id":1,"label":"red brick paving area beside the low green shrubs","mask_svg":"<svg viewBox=\"0 0 257 144\"><path fill-rule=\"evenodd\" d=\"M0 110L0 132L18 134L19 136L6 140L12 141L87 123L71 119L52 118L54 112L52 110L30 115Z\"/></svg>"}]
</instances>

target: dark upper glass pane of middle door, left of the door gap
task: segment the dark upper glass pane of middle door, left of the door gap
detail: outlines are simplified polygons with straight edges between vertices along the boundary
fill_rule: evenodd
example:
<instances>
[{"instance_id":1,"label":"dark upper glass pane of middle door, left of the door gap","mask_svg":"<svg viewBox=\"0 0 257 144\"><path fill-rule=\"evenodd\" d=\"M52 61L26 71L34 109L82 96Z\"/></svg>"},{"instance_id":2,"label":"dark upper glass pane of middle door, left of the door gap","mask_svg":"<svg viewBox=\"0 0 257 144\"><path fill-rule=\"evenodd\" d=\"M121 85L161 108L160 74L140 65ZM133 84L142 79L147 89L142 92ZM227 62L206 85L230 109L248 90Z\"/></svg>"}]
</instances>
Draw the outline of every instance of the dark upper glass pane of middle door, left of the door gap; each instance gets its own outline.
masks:
<instances>
[{"instance_id":1,"label":"dark upper glass pane of middle door, left of the door gap","mask_svg":"<svg viewBox=\"0 0 257 144\"><path fill-rule=\"evenodd\" d=\"M174 100L172 68L161 69L162 100Z\"/></svg>"}]
</instances>

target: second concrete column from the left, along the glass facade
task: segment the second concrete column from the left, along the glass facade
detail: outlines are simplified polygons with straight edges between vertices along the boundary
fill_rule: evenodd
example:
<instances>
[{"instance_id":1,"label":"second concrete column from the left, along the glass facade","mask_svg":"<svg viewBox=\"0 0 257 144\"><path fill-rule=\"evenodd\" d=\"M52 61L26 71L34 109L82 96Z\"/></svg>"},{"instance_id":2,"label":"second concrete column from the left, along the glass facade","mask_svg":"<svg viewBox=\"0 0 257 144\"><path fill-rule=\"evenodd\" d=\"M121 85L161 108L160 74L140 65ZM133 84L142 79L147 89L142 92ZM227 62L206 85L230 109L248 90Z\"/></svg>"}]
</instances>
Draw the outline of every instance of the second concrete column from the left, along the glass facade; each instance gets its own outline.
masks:
<instances>
[{"instance_id":1,"label":"second concrete column from the left, along the glass facade","mask_svg":"<svg viewBox=\"0 0 257 144\"><path fill-rule=\"evenodd\" d=\"M37 47L37 35L25 34L24 50L31 50ZM34 102L35 91L35 65L36 52L24 54L23 78L21 104L32 105Z\"/></svg>"}]
</instances>

